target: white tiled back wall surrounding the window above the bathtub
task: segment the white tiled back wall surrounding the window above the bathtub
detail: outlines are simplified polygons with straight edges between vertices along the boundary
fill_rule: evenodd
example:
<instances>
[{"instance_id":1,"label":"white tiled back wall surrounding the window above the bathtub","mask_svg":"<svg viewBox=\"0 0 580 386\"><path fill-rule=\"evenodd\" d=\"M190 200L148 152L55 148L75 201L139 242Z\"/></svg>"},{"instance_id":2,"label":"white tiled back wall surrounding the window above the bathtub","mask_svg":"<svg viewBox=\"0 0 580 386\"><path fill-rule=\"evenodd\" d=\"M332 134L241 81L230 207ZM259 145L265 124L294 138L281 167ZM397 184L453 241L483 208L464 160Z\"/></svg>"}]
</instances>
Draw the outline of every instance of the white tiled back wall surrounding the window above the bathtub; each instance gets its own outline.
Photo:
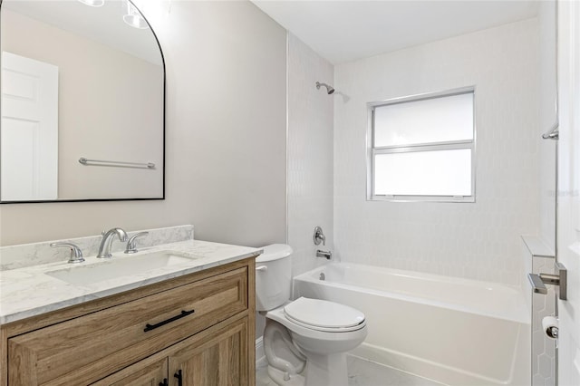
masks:
<instances>
[{"instance_id":1,"label":"white tiled back wall surrounding the window above the bathtub","mask_svg":"<svg viewBox=\"0 0 580 386\"><path fill-rule=\"evenodd\" d=\"M334 247L343 261L517 284L536 234L537 21L335 67ZM366 201L369 101L476 86L476 199Z\"/></svg>"}]
</instances>

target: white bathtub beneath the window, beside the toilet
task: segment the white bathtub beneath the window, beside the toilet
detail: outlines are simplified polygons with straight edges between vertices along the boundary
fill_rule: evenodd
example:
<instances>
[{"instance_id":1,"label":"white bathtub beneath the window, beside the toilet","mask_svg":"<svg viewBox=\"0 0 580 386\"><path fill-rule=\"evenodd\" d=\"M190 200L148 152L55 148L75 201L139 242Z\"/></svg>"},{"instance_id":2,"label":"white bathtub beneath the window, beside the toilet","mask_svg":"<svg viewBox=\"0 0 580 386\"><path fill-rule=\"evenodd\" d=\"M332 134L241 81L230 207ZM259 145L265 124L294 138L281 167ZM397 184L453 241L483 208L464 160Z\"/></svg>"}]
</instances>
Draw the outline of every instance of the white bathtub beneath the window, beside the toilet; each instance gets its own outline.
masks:
<instances>
[{"instance_id":1,"label":"white bathtub beneath the window, beside the toilet","mask_svg":"<svg viewBox=\"0 0 580 386\"><path fill-rule=\"evenodd\" d=\"M355 356L447 385L531 384L530 313L516 287L334 263L295 276L294 296L361 310L369 334Z\"/></svg>"}]
</instances>

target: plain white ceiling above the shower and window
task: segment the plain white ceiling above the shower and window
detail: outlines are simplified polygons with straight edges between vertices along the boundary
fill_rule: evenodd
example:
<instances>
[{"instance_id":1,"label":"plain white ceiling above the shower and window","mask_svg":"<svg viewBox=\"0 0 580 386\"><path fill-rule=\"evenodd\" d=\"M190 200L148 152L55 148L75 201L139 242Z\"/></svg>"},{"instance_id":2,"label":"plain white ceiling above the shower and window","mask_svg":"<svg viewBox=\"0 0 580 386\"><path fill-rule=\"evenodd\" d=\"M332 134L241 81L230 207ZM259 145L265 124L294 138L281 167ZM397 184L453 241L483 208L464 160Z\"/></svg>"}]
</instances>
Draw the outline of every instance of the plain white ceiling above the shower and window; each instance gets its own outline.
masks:
<instances>
[{"instance_id":1,"label":"plain white ceiling above the shower and window","mask_svg":"<svg viewBox=\"0 0 580 386\"><path fill-rule=\"evenodd\" d=\"M333 64L535 17L540 0L252 0Z\"/></svg>"}]
</instances>

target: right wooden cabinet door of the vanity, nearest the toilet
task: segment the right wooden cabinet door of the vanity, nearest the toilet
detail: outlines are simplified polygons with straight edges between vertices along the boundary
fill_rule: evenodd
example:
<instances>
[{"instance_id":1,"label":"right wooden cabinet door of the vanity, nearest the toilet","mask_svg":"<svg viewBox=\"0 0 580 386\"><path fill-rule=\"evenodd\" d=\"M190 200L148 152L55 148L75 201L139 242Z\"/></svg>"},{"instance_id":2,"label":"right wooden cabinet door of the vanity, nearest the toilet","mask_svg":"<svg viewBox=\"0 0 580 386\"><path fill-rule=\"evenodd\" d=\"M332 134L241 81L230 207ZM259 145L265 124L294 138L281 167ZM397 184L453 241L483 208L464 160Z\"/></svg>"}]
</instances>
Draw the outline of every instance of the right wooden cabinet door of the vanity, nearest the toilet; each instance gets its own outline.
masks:
<instances>
[{"instance_id":1,"label":"right wooden cabinet door of the vanity, nearest the toilet","mask_svg":"<svg viewBox=\"0 0 580 386\"><path fill-rule=\"evenodd\" d=\"M189 338L185 347L169 354L169 384L249 386L247 328L246 317L215 333Z\"/></svg>"}]
</instances>

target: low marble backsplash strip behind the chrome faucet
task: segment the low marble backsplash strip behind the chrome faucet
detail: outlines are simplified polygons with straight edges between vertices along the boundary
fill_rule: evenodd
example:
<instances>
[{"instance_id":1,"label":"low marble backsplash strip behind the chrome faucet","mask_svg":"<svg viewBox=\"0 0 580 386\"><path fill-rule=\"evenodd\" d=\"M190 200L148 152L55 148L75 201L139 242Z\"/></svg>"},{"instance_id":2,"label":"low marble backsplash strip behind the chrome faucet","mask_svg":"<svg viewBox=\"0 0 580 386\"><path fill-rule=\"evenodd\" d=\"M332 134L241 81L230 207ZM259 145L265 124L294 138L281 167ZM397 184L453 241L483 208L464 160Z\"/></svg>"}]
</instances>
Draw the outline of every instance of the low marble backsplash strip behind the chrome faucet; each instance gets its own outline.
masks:
<instances>
[{"instance_id":1,"label":"low marble backsplash strip behind the chrome faucet","mask_svg":"<svg viewBox=\"0 0 580 386\"><path fill-rule=\"evenodd\" d=\"M149 235L140 236L137 239L137 249L145 246L157 246L193 239L193 226L191 225L142 229L127 232L127 235L131 237L136 233L145 231L149 232ZM0 271L54 263L57 261L67 261L70 256L70 249L65 247L51 247L50 244L55 242L73 243L81 248L83 256L96 255L101 245L101 240L102 236L97 235L42 241L17 246L0 246ZM114 239L111 251L122 252L125 250L125 246L127 246L127 243L121 243L118 239Z\"/></svg>"}]
</instances>

